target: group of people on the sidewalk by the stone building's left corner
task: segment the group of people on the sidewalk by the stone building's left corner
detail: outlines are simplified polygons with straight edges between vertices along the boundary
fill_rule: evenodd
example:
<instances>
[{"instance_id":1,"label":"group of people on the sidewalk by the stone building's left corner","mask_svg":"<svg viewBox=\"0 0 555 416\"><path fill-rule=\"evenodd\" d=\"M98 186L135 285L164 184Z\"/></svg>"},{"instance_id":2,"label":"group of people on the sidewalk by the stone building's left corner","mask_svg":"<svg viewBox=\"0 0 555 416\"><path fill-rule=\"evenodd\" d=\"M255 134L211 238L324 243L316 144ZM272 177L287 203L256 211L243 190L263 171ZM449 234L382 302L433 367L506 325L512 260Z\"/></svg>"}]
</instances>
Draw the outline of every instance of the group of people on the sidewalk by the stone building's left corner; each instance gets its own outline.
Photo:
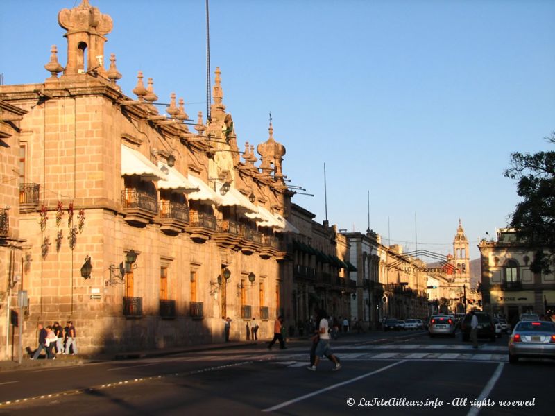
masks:
<instances>
[{"instance_id":1,"label":"group of people on the sidewalk by the stone building's left corner","mask_svg":"<svg viewBox=\"0 0 555 416\"><path fill-rule=\"evenodd\" d=\"M77 354L76 331L74 323L67 321L65 327L59 322L54 322L44 328L43 324L38 324L39 346L31 360L36 360L42 350L46 351L46 359L56 359L56 354ZM56 348L56 352L53 350Z\"/></svg>"}]
</instances>

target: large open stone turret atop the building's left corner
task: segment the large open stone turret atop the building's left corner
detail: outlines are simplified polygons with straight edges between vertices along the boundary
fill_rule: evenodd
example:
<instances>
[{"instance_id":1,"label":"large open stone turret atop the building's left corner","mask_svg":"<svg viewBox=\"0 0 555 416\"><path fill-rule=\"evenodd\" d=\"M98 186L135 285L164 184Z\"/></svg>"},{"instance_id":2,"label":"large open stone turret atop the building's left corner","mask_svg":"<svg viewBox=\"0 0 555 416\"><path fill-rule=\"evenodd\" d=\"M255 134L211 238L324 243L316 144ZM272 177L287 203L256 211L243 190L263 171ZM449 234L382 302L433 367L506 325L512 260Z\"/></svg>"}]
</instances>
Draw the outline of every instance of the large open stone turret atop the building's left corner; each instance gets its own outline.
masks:
<instances>
[{"instance_id":1,"label":"large open stone turret atop the building's left corner","mask_svg":"<svg viewBox=\"0 0 555 416\"><path fill-rule=\"evenodd\" d=\"M104 43L105 35L112 31L112 18L83 0L76 8L61 10L58 24L67 29L65 74L76 75L94 69L101 76L106 76L103 67Z\"/></svg>"}]
</instances>

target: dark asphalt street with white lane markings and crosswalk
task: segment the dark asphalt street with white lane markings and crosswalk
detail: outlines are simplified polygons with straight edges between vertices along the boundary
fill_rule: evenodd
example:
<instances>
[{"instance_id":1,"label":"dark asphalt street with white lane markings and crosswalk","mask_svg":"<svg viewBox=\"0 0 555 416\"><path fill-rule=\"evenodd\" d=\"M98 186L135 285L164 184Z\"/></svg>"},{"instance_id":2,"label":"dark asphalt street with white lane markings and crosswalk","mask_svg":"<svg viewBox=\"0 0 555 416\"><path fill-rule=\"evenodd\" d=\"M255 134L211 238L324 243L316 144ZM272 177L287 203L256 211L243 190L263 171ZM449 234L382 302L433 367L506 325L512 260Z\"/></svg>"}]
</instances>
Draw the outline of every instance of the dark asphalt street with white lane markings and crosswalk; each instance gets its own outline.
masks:
<instances>
[{"instance_id":1,"label":"dark asphalt street with white lane markings and crosswalk","mask_svg":"<svg viewBox=\"0 0 555 416\"><path fill-rule=\"evenodd\" d=\"M332 347L343 364L338 372L331 371L327 360L318 371L307 371L306 340L290 342L287 350L268 351L259 343L2 372L0 414L60 409L79 415L260 410L280 415L552 414L555 362L509 365L506 336L495 343L482 342L474 350L459 334L432 340L424 331L374 332L341 338ZM471 406L476 399L484 406ZM488 399L495 405L487 406ZM517 402L502 406L499 401Z\"/></svg>"}]
</instances>

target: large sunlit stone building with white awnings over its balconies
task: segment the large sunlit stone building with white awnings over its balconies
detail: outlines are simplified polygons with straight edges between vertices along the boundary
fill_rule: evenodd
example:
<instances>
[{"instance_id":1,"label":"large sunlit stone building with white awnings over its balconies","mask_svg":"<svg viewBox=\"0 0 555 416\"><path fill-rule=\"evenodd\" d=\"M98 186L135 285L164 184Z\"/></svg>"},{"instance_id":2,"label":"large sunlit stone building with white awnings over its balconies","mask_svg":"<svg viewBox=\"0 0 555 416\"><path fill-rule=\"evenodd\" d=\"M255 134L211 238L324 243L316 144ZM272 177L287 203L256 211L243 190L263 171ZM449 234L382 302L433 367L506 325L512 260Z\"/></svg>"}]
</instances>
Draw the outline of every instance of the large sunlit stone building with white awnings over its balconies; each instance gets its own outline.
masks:
<instances>
[{"instance_id":1,"label":"large sunlit stone building with white awnings over its balconies","mask_svg":"<svg viewBox=\"0 0 555 416\"><path fill-rule=\"evenodd\" d=\"M113 54L105 69L110 16L83 0L58 21L65 67L53 46L44 82L0 86L3 336L18 342L4 322L20 290L31 347L38 322L69 319L85 354L223 340L223 316L232 339L252 318L270 336L291 313L296 231L272 126L257 164L216 69L211 119L191 132L182 99L164 114L152 78L139 72L131 97Z\"/></svg>"}]
</instances>

